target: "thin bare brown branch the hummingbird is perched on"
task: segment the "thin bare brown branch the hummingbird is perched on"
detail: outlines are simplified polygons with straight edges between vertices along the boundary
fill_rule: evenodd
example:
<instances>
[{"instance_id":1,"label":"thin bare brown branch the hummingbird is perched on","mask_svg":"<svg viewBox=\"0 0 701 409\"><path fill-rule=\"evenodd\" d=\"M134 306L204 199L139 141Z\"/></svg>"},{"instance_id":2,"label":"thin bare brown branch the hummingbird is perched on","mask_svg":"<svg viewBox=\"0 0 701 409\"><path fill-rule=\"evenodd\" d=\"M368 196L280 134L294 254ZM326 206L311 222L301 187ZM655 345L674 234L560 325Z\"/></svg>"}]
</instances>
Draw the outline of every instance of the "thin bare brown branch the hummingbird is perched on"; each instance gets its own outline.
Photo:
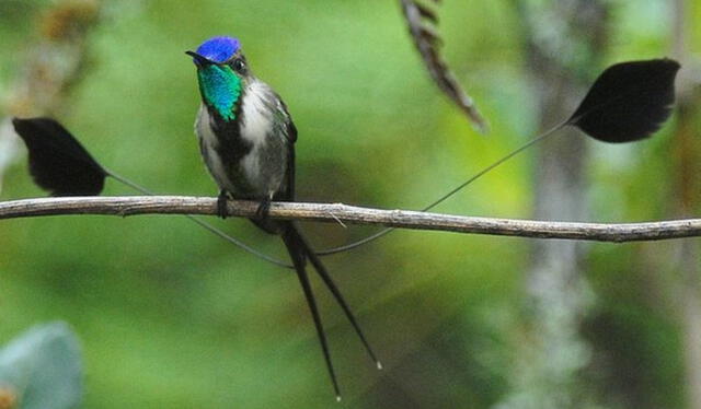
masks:
<instances>
[{"instance_id":1,"label":"thin bare brown branch the hummingbird is perched on","mask_svg":"<svg viewBox=\"0 0 701 409\"><path fill-rule=\"evenodd\" d=\"M255 217L258 203L230 201L232 217ZM62 214L217 214L217 199L187 196L67 197L0 202L0 220ZM273 219L436 230L536 238L640 242L701 236L701 219L646 223L578 223L472 218L410 210L381 210L342 203L274 202Z\"/></svg>"}]
</instances>

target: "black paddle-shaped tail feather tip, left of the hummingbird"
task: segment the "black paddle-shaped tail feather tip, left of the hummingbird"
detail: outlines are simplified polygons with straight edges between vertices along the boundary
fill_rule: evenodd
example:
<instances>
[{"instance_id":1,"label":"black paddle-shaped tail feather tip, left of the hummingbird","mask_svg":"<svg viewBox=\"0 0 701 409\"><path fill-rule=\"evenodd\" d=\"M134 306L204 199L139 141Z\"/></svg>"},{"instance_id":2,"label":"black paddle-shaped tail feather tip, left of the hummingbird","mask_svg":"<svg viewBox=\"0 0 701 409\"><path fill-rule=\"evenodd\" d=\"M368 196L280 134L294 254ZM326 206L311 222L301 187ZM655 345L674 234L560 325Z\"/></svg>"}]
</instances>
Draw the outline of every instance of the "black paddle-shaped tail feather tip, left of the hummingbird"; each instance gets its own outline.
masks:
<instances>
[{"instance_id":1,"label":"black paddle-shaped tail feather tip, left of the hummingbird","mask_svg":"<svg viewBox=\"0 0 701 409\"><path fill-rule=\"evenodd\" d=\"M99 195L107 173L59 122L50 118L13 118L30 152L30 174L51 196Z\"/></svg>"}]
</instances>

